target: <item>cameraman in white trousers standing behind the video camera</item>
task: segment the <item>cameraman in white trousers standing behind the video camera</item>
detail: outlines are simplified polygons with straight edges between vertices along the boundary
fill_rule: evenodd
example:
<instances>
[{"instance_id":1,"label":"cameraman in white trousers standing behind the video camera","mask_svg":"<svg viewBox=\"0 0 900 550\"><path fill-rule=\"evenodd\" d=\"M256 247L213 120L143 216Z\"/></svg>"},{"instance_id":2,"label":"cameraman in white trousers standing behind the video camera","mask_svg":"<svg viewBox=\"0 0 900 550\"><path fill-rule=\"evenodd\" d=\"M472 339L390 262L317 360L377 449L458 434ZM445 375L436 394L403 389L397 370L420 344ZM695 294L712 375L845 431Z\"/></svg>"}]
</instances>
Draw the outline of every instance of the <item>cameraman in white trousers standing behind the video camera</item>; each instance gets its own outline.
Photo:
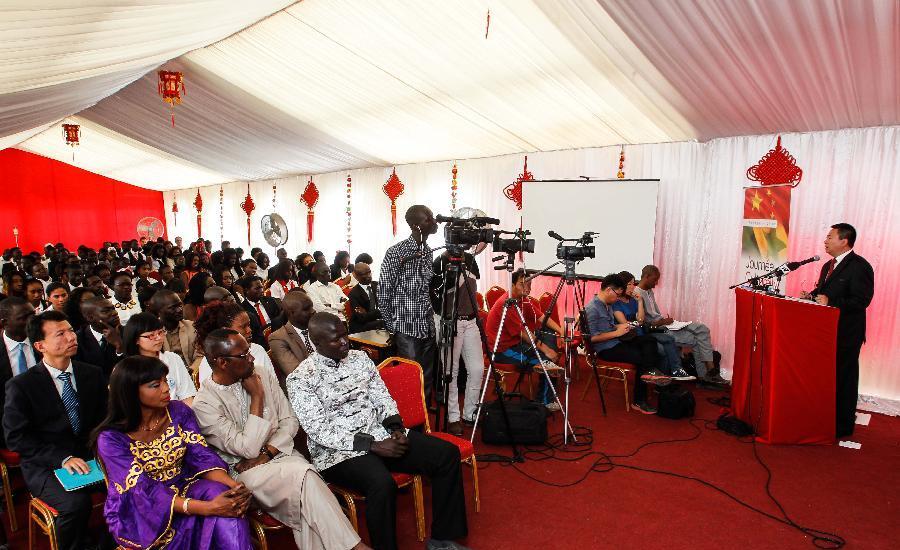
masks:
<instances>
[{"instance_id":1,"label":"cameraman in white trousers standing behind the video camera","mask_svg":"<svg viewBox=\"0 0 900 550\"><path fill-rule=\"evenodd\" d=\"M475 256L468 252L463 252L462 264L459 266L459 277L456 288L445 288L445 273L450 265L450 251L444 251L432 266L434 269L434 278L432 280L432 306L434 311L440 316L436 322L440 322L441 317L451 322L453 319L453 296L456 296L456 325L451 328L455 329L456 337L453 340L453 350L451 351L450 375L451 379L447 383L448 387L444 389L448 401L447 406L447 431L453 435L462 435L463 421L470 423L475 421L475 407L478 404L479 391L481 390L481 378L484 374L484 361L481 346L481 331L478 328L478 304L475 301L476 280L481 278L478 271L478 264L475 263ZM452 284L447 282L446 284ZM440 335L439 335L440 343ZM466 393L463 405L463 415L460 419L459 413L459 358L462 355L466 363ZM442 356L445 357L445 356ZM446 366L441 365L443 369Z\"/></svg>"}]
</instances>

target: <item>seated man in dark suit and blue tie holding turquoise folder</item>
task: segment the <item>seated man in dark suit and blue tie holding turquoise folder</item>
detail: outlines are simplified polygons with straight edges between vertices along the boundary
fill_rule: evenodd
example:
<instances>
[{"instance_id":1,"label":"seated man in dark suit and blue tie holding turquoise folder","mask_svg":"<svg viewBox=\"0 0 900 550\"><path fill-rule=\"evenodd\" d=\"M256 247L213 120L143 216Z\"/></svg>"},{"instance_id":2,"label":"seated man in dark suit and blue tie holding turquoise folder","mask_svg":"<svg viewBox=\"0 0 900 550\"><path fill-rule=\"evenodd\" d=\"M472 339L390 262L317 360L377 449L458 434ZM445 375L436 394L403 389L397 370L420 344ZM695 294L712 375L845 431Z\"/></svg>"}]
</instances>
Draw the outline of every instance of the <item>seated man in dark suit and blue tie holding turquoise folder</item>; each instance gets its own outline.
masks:
<instances>
[{"instance_id":1,"label":"seated man in dark suit and blue tie holding turquoise folder","mask_svg":"<svg viewBox=\"0 0 900 550\"><path fill-rule=\"evenodd\" d=\"M6 384L6 445L21 456L31 494L58 512L58 547L83 550L96 486L66 491L53 471L90 471L88 436L106 414L106 379L99 368L72 360L78 340L62 313L35 315L26 330L42 361Z\"/></svg>"}]
</instances>

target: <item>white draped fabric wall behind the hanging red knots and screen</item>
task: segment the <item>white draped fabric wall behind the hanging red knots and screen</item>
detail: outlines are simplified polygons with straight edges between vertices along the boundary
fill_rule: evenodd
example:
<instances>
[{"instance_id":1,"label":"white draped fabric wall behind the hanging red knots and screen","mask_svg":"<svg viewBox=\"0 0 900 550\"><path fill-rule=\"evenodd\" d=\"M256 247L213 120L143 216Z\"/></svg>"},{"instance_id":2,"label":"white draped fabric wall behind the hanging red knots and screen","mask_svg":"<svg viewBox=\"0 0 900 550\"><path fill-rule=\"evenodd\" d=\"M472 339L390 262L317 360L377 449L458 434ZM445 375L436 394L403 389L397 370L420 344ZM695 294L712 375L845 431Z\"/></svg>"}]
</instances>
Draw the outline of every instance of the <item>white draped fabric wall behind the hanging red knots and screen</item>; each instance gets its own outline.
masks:
<instances>
[{"instance_id":1,"label":"white draped fabric wall behind the hanging red knots and screen","mask_svg":"<svg viewBox=\"0 0 900 550\"><path fill-rule=\"evenodd\" d=\"M775 136L717 139L709 143L669 143L626 147L626 174L633 178L660 178L655 261L663 278L658 290L661 304L678 318L700 319L709 324L715 344L730 369L733 360L734 298L727 287L743 272L739 265L743 186L747 167L775 144ZM895 364L900 349L900 314L897 296L900 282L892 275L900 269L900 127L841 130L811 134L788 134L783 145L796 156L804 170L803 182L794 190L791 208L790 256L822 255L821 242L828 226L838 221L854 224L859 231L856 250L875 268L875 299L869 308L869 337L863 348L860 389L862 393L897 399L900 376ZM573 178L582 175L614 177L618 148L607 147L537 153L529 155L528 167L535 177ZM515 205L502 195L502 188L522 171L523 155L458 161L459 206L475 206L499 217L502 226L519 224ZM371 253L376 264L387 246L408 235L403 213L412 204L429 205L447 213L450 201L452 162L433 162L397 167L406 185L398 201L399 232L391 235L389 200L381 190L390 169L353 170L353 243L351 256ZM272 185L277 184L278 204L290 226L286 248L293 257L302 251L321 249L329 259L346 249L345 185L348 172L316 176L321 199L316 206L315 240L306 242L306 208L299 195L306 178L253 182L251 194L257 205L251 220L250 246L261 246L271 257L274 250L262 239L259 219L272 211ZM623 184L627 185L627 184ZM234 183L224 190L224 236L233 246L246 244L246 217L239 208L247 184ZM196 189L165 193L170 238L196 238L196 218L191 207ZM218 243L219 187L201 188L204 236ZM178 223L171 213L172 200L179 205ZM526 205L526 208L530 207ZM566 215L565 204L535 205ZM627 208L627 205L606 205ZM598 216L604 205L597 205ZM585 220L585 230L591 228ZM603 242L616 235L604 235ZM439 234L435 241L443 241ZM439 243L438 243L439 244ZM506 272L491 269L488 257L479 259L484 274L480 286L507 285ZM526 262L528 257L526 255ZM540 268L544 266L529 266ZM802 283L814 284L816 267L792 274L788 289L797 292ZM535 285L539 294L543 287ZM810 365L810 368L815 368Z\"/></svg>"}]
</instances>

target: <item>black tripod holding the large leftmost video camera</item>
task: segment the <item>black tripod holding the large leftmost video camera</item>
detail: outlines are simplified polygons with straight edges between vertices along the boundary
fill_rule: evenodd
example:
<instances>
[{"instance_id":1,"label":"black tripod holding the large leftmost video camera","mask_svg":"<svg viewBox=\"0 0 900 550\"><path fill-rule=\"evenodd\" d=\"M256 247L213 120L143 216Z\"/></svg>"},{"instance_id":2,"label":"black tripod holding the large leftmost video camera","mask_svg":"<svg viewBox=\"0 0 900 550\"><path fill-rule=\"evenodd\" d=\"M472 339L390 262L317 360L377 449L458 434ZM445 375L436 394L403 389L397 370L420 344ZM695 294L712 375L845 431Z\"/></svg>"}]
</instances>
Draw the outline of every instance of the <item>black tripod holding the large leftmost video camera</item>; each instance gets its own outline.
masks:
<instances>
[{"instance_id":1,"label":"black tripod holding the large leftmost video camera","mask_svg":"<svg viewBox=\"0 0 900 550\"><path fill-rule=\"evenodd\" d=\"M444 280L443 280L443 300L441 301L441 332L440 332L440 345L441 345L441 376L439 377L439 384L443 387L444 391L444 404L439 409L438 418L436 419L436 424L440 427L441 424L441 413L443 413L443 427L447 428L450 420L450 389L449 385L454 383L453 380L453 360L455 359L453 353L453 347L456 342L457 336L457 321L459 320L459 281L460 277L464 282L463 286L466 288L466 295L469 299L469 304L471 304L472 309L476 311L475 314L475 323L478 325L478 333L481 338L482 349L487 349L487 337L484 335L484 326L481 322L481 319L477 315L478 310L478 302L475 299L475 292L472 290L472 287L468 283L468 277L466 274L466 266L464 262L463 251L457 249L456 247L447 247L447 251L450 253L448 259L448 266L444 271ZM490 357L490 365L493 366L493 356ZM483 462L524 462L525 458L522 456L521 452L519 452L519 448L516 445L516 440L513 437L512 425L509 421L509 412L506 409L506 399L505 399L505 391L503 389L503 384L500 383L500 374L492 371L491 368L488 368L487 376L484 379L484 388L487 388L487 384L491 379L493 373L494 380L494 391L497 393L498 399L500 400L500 411L501 416L503 417L503 423L506 427L506 433L509 434L510 444L512 445L513 456L512 457L498 457L497 455L489 455L489 456L480 456L479 460ZM479 400L478 406L476 407L475 413L475 426L472 428L472 439L475 438L475 430L478 428L478 416L481 412L481 403L484 400L484 391L481 393L481 399Z\"/></svg>"}]
</instances>

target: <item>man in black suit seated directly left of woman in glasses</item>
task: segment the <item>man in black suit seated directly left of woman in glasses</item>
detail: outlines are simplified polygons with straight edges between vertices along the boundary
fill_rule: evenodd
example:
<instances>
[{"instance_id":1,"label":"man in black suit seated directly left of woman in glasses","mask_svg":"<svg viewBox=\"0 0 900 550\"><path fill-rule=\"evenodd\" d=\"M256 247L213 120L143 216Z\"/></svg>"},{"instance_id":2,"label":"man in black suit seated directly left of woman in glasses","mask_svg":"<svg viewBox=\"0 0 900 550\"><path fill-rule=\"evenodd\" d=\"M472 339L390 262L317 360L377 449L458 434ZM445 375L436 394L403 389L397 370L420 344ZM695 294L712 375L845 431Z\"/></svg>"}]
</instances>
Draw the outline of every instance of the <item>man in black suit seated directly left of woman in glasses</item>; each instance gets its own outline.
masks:
<instances>
[{"instance_id":1,"label":"man in black suit seated directly left of woman in glasses","mask_svg":"<svg viewBox=\"0 0 900 550\"><path fill-rule=\"evenodd\" d=\"M81 303L85 324L78 329L78 353L75 359L110 372L125 353L122 325L116 308L106 298L91 298Z\"/></svg>"}]
</instances>

